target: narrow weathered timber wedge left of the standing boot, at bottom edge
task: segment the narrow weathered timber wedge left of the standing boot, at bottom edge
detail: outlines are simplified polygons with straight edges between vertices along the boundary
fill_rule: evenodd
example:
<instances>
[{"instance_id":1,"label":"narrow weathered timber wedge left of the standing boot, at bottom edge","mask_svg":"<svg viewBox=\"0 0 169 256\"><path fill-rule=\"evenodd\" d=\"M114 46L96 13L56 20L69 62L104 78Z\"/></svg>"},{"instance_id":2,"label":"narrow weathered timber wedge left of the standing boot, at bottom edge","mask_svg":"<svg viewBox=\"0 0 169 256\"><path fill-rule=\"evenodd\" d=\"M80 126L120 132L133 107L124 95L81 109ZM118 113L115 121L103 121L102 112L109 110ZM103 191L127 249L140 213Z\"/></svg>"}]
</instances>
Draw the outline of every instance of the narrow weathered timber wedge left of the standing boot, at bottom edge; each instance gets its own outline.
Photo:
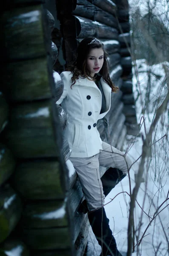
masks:
<instances>
[{"instance_id":1,"label":"narrow weathered timber wedge left of the standing boot, at bottom edge","mask_svg":"<svg viewBox=\"0 0 169 256\"><path fill-rule=\"evenodd\" d=\"M85 251L87 238L89 236L89 227L90 227L89 219L88 219L88 216L86 215L83 221L79 236L77 237L77 240L74 243L76 256L82 256Z\"/></svg>"}]
</instances>

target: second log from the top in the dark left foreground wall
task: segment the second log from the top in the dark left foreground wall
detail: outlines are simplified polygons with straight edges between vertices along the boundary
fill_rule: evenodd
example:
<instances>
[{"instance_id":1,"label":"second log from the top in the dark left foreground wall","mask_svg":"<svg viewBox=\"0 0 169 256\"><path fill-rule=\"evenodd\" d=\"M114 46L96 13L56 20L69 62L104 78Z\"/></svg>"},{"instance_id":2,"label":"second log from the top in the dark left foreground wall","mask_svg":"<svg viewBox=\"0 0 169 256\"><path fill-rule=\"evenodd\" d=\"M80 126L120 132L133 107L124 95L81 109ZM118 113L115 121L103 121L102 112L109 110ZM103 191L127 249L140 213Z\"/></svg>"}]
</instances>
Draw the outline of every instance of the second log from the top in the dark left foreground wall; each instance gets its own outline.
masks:
<instances>
[{"instance_id":1,"label":"second log from the top in the dark left foreground wall","mask_svg":"<svg viewBox=\"0 0 169 256\"><path fill-rule=\"evenodd\" d=\"M2 89L11 102L51 98L46 57L7 63L3 71Z\"/></svg>"}]
</instances>

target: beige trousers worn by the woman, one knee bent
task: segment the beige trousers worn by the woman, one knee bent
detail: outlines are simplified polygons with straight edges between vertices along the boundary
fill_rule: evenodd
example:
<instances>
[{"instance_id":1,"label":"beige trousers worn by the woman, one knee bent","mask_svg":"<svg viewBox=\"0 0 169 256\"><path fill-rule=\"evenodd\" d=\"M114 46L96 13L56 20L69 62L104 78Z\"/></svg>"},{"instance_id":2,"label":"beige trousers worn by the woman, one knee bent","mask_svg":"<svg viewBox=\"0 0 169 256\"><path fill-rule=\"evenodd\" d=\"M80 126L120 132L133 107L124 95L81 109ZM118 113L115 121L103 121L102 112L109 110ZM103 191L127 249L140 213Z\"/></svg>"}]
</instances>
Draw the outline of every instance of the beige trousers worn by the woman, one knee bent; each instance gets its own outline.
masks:
<instances>
[{"instance_id":1,"label":"beige trousers worn by the woman, one knee bent","mask_svg":"<svg viewBox=\"0 0 169 256\"><path fill-rule=\"evenodd\" d=\"M70 157L79 177L90 211L103 207L104 205L105 195L103 194L103 186L100 180L99 166L117 168L127 174L126 161L129 167L132 164L128 156L126 156L125 161L124 157L121 156L123 153L117 148L112 147L111 149L111 146L105 142L102 143L102 147L103 151L92 157Z\"/></svg>"}]
</instances>

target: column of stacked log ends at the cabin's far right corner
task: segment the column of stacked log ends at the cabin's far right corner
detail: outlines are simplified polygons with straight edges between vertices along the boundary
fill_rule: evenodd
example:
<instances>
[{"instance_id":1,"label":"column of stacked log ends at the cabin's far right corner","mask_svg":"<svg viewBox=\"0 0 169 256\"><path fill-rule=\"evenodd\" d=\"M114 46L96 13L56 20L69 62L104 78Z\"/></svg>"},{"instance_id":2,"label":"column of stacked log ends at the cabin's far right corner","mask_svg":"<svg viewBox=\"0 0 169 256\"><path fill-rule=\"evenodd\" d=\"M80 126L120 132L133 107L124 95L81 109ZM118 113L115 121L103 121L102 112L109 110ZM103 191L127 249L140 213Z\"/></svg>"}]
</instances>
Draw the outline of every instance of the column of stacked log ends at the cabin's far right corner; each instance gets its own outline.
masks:
<instances>
[{"instance_id":1,"label":"column of stacked log ends at the cabin's far right corner","mask_svg":"<svg viewBox=\"0 0 169 256\"><path fill-rule=\"evenodd\" d=\"M138 125L135 111L135 100L132 91L132 57L131 57L131 36L129 26L129 3L128 0L117 1L117 19L119 25L119 42L121 65L123 67L123 92L124 103L123 113L126 117L127 134L137 135Z\"/></svg>"}]
</instances>

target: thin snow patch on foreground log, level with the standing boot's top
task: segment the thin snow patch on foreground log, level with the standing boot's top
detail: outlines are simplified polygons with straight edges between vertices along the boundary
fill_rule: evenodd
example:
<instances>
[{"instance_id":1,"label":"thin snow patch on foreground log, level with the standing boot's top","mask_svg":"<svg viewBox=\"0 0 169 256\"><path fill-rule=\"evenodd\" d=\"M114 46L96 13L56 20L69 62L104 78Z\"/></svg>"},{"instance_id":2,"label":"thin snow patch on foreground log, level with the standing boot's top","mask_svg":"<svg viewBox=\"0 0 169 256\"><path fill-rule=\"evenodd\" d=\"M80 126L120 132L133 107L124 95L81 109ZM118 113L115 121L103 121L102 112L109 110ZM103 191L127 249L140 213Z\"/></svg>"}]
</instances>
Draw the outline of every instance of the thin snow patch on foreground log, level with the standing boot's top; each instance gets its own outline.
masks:
<instances>
[{"instance_id":1,"label":"thin snow patch on foreground log, level with the standing boot's top","mask_svg":"<svg viewBox=\"0 0 169 256\"><path fill-rule=\"evenodd\" d=\"M65 210L65 203L64 203L62 207L60 207L55 211L44 212L42 214L34 214L33 217L40 218L42 220L49 220L49 219L63 218L65 214L66 214L66 210Z\"/></svg>"}]
</instances>

